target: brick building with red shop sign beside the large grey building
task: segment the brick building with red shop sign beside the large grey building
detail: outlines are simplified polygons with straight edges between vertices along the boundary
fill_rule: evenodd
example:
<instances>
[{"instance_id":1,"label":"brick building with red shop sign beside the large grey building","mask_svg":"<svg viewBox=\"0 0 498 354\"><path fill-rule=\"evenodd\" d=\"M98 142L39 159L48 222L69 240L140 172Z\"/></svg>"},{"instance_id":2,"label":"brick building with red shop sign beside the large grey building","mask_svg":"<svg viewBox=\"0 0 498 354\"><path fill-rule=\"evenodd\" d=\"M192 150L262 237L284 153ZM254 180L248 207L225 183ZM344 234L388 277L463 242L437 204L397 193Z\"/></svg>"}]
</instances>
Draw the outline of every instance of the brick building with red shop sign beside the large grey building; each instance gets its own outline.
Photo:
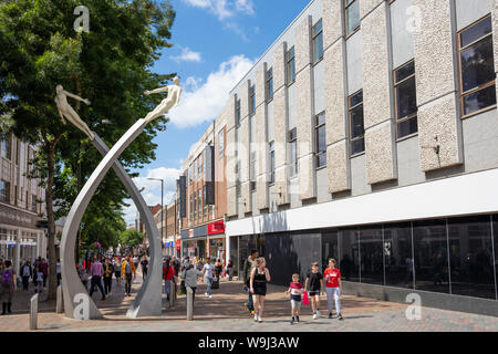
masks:
<instances>
[{"instance_id":1,"label":"brick building with red shop sign beside the large grey building","mask_svg":"<svg viewBox=\"0 0 498 354\"><path fill-rule=\"evenodd\" d=\"M177 192L185 204L185 214L179 210L181 256L226 260L226 117L224 112L212 122L183 166Z\"/></svg>"}]
</instances>

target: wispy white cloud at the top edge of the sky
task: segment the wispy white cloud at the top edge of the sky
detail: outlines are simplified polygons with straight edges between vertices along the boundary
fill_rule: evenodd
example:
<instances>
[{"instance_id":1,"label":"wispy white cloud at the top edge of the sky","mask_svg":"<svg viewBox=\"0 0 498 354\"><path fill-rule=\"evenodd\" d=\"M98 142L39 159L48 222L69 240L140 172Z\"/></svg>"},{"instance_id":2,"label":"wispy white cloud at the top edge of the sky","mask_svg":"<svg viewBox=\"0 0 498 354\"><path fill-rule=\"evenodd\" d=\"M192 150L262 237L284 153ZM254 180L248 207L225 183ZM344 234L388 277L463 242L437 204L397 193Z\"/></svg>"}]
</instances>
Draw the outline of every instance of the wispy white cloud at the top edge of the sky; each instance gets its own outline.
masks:
<instances>
[{"instance_id":1,"label":"wispy white cloud at the top edge of the sky","mask_svg":"<svg viewBox=\"0 0 498 354\"><path fill-rule=\"evenodd\" d=\"M236 13L255 14L253 0L183 0L191 7L206 9L222 21Z\"/></svg>"}]
</instances>

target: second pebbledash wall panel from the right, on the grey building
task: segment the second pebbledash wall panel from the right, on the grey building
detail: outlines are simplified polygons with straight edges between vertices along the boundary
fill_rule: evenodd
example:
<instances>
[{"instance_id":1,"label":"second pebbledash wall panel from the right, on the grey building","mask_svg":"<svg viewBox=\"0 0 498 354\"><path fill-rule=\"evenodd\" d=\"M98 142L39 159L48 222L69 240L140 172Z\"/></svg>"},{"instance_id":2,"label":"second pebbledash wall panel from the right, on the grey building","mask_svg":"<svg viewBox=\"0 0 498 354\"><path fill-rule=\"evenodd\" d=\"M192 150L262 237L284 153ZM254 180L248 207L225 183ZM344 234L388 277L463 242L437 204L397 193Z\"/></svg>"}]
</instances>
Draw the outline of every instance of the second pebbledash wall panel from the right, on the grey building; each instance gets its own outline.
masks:
<instances>
[{"instance_id":1,"label":"second pebbledash wall panel from the right, on the grey building","mask_svg":"<svg viewBox=\"0 0 498 354\"><path fill-rule=\"evenodd\" d=\"M362 34L366 176L373 185L397 178L385 2L362 20Z\"/></svg>"}]
</instances>

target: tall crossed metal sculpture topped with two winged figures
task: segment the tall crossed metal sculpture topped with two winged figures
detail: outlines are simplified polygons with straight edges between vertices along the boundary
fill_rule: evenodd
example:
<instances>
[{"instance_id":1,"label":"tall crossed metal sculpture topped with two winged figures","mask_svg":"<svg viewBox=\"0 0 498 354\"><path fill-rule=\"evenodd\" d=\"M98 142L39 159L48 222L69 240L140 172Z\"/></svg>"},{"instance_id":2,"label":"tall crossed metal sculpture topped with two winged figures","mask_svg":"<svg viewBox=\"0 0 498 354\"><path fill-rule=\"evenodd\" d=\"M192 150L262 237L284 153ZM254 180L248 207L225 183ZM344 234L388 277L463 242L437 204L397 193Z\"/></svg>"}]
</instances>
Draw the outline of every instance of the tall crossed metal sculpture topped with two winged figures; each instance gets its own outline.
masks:
<instances>
[{"instance_id":1,"label":"tall crossed metal sculpture topped with two winged figures","mask_svg":"<svg viewBox=\"0 0 498 354\"><path fill-rule=\"evenodd\" d=\"M72 107L68 104L66 96L80 100L82 102L85 102L86 104L90 104L90 102L63 91L62 86L60 85L56 88L58 96L55 97L55 103L58 104L62 121L64 122L63 115L66 116L66 118L71 123L82 129L91 138L93 146L95 146L95 148L97 148L98 152L104 155L103 160L96 167L96 169L76 197L76 200L71 208L62 232L61 275L64 295L64 312L68 317L79 317L82 320L102 319L101 312L96 308L93 300L87 295L87 292L80 281L79 274L76 273L74 248L77 229L80 227L83 215L90 204L90 200L95 194L96 188L111 167L114 168L126 190L132 196L132 199L136 204L136 207L141 212L142 218L144 219L147 235L152 236L149 238L151 264L148 275L145 279L141 291L138 292L133 305L129 308L126 315L129 317L138 317L159 315L162 313L163 271L162 240L159 238L159 232L145 200L143 199L133 180L126 174L123 166L117 162L117 159L126 149L126 147L129 146L129 144L132 144L132 142L144 131L145 126L149 122L159 117L160 115L166 114L173 106L178 105L181 95L181 88L178 86L178 84L179 79L175 77L175 85L164 88L157 88L152 92L156 93L168 91L169 94L168 97L164 100L156 110L151 112L145 119L137 121L111 150L104 144L104 142L102 142L102 139L97 135L95 135L94 132L90 131L86 124L81 121L74 110L72 110ZM146 94L149 94L149 92L147 92ZM82 303L80 303L79 299L83 299ZM85 299L87 301L85 301ZM81 306L87 306L87 309L81 309L82 313L84 314L83 316L79 315Z\"/></svg>"}]
</instances>

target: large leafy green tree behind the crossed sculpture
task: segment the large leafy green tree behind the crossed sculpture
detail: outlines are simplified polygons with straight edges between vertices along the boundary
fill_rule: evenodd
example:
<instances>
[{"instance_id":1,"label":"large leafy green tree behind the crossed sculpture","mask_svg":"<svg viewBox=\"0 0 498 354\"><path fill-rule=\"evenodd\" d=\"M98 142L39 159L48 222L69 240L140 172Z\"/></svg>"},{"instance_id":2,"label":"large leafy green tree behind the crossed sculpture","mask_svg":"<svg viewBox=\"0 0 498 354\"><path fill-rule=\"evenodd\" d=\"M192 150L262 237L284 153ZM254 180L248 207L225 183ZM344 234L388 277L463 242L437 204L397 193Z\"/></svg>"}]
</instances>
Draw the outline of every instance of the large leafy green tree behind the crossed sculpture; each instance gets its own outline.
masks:
<instances>
[{"instance_id":1,"label":"large leafy green tree behind the crossed sculpture","mask_svg":"<svg viewBox=\"0 0 498 354\"><path fill-rule=\"evenodd\" d=\"M76 6L90 10L90 33L76 33ZM55 86L90 98L91 106L74 104L80 116L107 145L114 144L136 119L144 117L160 97L145 96L149 87L165 85L173 75L157 75L148 67L169 48L175 18L169 1L154 0L3 0L0 3L0 117L24 142L35 144L32 177L45 188L49 220L49 259L55 259L54 200L66 212L74 190L75 162L82 178L102 156L73 126L61 123L54 105ZM111 125L100 124L103 119ZM155 158L153 138L166 119L147 126L122 156L127 168ZM80 147L83 146L83 152ZM77 154L80 152L80 154ZM76 153L76 154L75 154ZM122 202L126 192L110 173L89 209L105 214ZM61 185L66 188L55 188ZM72 188L71 188L72 187ZM98 200L98 202L96 202ZM89 215L91 215L89 212ZM90 217L91 218L91 217ZM95 221L95 220L94 220ZM82 226L92 225L85 217ZM55 298L55 262L50 262L49 299Z\"/></svg>"}]
</instances>

